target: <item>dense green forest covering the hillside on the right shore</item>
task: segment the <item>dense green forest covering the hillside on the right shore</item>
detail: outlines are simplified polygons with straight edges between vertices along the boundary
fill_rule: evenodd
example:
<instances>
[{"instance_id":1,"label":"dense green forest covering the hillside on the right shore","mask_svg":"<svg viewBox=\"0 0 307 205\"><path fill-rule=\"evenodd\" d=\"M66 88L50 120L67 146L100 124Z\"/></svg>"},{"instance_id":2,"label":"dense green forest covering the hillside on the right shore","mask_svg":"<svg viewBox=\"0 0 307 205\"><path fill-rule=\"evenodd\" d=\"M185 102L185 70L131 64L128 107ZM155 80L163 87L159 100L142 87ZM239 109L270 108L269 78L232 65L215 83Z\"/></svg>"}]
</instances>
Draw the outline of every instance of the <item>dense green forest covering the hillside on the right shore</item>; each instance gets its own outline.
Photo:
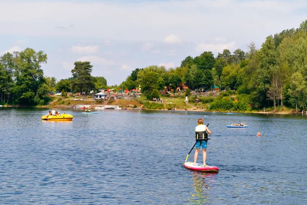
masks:
<instances>
[{"instance_id":1,"label":"dense green forest covering the hillside on the right shore","mask_svg":"<svg viewBox=\"0 0 307 205\"><path fill-rule=\"evenodd\" d=\"M141 85L148 99L158 97L161 90L184 83L190 90L235 91L237 103L224 92L214 99L215 109L247 110L284 106L296 111L307 102L307 20L298 29L287 29L270 35L260 49L251 43L248 51L225 49L214 57L205 51L196 57L187 56L181 66L165 69L148 66L135 69L119 86L135 89Z\"/></svg>"}]
</instances>

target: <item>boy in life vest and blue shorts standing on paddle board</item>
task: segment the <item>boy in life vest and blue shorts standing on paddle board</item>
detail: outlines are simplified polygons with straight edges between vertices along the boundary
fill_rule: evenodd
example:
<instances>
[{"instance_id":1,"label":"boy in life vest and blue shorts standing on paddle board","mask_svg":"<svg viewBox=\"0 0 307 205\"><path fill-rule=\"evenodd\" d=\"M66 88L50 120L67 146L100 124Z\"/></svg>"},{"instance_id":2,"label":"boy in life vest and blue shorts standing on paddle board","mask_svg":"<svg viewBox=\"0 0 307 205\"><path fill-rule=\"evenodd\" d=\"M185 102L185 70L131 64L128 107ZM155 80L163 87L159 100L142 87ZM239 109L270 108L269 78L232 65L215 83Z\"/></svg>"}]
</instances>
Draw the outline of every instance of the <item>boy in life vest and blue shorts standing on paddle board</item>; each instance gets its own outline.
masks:
<instances>
[{"instance_id":1,"label":"boy in life vest and blue shorts standing on paddle board","mask_svg":"<svg viewBox=\"0 0 307 205\"><path fill-rule=\"evenodd\" d=\"M195 138L196 138L196 150L194 154L194 163L193 165L196 165L197 157L200 152L200 148L202 146L203 148L203 161L204 166L206 165L206 159L207 159L207 141L208 141L208 134L211 134L211 131L208 129L207 126L204 125L204 120L202 118L198 119L197 121L198 126L195 128Z\"/></svg>"}]
</instances>

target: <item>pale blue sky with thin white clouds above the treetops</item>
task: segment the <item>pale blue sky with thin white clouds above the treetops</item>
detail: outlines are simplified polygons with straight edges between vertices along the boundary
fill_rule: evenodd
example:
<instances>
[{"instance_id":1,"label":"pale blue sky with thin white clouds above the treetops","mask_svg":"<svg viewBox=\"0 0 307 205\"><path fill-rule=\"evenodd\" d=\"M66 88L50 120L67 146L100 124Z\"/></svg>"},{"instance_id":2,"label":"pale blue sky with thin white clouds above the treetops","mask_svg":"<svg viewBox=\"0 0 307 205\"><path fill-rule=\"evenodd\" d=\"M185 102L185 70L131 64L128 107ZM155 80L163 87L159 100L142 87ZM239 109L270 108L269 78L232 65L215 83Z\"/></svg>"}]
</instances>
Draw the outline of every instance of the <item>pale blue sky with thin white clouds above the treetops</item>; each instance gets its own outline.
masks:
<instances>
[{"instance_id":1,"label":"pale blue sky with thin white clouds above the treetops","mask_svg":"<svg viewBox=\"0 0 307 205\"><path fill-rule=\"evenodd\" d=\"M77 60L120 84L132 70L180 66L188 55L261 47L268 35L298 28L305 1L0 0L0 54L43 50L46 76L71 77Z\"/></svg>"}]
</instances>

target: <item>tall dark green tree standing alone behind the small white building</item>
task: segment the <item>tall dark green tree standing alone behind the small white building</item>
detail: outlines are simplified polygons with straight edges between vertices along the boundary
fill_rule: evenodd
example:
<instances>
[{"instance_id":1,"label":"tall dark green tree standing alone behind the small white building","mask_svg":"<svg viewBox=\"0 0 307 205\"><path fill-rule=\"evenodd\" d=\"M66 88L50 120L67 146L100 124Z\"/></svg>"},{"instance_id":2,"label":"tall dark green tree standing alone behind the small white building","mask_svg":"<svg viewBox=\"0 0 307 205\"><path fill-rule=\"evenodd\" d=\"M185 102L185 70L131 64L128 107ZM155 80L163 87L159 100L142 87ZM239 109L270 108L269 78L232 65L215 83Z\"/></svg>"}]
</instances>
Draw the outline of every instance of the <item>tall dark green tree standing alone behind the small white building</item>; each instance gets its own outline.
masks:
<instances>
[{"instance_id":1,"label":"tall dark green tree standing alone behind the small white building","mask_svg":"<svg viewBox=\"0 0 307 205\"><path fill-rule=\"evenodd\" d=\"M75 68L72 70L74 78L74 90L77 92L85 92L95 89L95 78L91 75L93 66L89 61L76 61Z\"/></svg>"}]
</instances>

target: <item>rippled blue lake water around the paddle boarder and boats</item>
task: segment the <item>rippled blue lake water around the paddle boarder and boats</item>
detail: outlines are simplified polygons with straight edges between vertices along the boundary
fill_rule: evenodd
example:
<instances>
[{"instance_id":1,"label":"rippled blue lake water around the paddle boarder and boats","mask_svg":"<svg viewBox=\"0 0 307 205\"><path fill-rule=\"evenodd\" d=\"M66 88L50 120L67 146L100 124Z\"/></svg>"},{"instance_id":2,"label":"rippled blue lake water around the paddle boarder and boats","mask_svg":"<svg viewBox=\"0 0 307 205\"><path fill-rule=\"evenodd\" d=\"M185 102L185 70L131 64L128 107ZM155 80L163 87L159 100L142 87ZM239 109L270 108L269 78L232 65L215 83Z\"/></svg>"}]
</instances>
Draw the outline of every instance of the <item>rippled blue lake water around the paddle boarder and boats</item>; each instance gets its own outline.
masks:
<instances>
[{"instance_id":1,"label":"rippled blue lake water around the paddle boarder and boats","mask_svg":"<svg viewBox=\"0 0 307 205\"><path fill-rule=\"evenodd\" d=\"M307 203L307 116L67 109L73 121L42 121L47 112L0 109L1 204ZM218 174L183 167L198 118ZM237 122L249 127L227 128Z\"/></svg>"}]
</instances>

